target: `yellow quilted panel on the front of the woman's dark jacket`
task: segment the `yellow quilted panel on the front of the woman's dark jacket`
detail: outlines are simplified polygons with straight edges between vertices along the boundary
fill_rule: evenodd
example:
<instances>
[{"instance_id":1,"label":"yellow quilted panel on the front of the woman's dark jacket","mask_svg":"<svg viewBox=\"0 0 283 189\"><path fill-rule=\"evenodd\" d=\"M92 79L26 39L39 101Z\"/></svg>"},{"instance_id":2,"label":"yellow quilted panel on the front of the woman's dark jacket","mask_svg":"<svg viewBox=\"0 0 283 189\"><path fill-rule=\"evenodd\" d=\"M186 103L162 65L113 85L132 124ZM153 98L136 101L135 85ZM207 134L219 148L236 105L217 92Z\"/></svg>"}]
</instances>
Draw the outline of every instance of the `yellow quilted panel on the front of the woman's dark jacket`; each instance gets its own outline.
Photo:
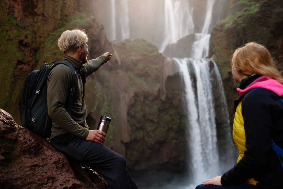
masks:
<instances>
[{"instance_id":1,"label":"yellow quilted panel on the front of the woman's dark jacket","mask_svg":"<svg viewBox=\"0 0 283 189\"><path fill-rule=\"evenodd\" d=\"M244 119L242 115L242 102L240 102L236 108L234 123L233 123L233 139L237 148L239 150L239 157L237 163L243 158L244 152L246 151L246 136L244 129ZM247 179L247 184L256 185L258 181L255 181L253 178Z\"/></svg>"}]
</instances>

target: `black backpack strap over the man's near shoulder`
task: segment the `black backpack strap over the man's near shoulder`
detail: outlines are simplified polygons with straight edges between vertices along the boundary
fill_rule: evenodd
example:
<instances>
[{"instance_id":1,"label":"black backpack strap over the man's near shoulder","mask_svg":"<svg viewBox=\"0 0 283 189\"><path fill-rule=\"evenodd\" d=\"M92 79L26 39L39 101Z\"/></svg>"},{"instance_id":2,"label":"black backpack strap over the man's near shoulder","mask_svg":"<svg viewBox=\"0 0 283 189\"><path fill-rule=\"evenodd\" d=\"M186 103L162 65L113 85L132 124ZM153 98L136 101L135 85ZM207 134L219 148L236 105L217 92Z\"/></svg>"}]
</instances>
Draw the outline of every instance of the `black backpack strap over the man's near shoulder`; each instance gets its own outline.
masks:
<instances>
[{"instance_id":1,"label":"black backpack strap over the man's near shoulder","mask_svg":"<svg viewBox=\"0 0 283 189\"><path fill-rule=\"evenodd\" d=\"M72 116L72 102L73 102L73 98L74 98L74 93L77 89L77 74L78 74L78 71L75 70L73 64L71 64L70 62L53 62L53 63L54 63L54 65L52 66L52 69L55 66L57 66L58 64L65 64L72 71L73 80L72 80L71 87L70 87L69 93L68 93L68 97L67 97L67 100L66 100L66 103L65 103L65 108L66 108L68 114L70 116Z\"/></svg>"}]
</instances>

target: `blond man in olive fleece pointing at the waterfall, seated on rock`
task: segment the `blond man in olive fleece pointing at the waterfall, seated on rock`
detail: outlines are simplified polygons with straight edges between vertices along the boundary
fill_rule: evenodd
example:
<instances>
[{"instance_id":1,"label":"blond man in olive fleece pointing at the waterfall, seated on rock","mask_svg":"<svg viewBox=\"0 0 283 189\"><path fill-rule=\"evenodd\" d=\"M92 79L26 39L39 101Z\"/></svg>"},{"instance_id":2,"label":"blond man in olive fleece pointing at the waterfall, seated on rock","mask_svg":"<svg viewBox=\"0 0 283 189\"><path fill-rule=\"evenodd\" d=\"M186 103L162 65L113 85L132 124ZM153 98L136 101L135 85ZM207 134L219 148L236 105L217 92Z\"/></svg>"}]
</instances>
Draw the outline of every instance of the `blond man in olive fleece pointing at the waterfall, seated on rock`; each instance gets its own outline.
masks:
<instances>
[{"instance_id":1,"label":"blond man in olive fleece pointing at the waterfall, seated on rock","mask_svg":"<svg viewBox=\"0 0 283 189\"><path fill-rule=\"evenodd\" d=\"M87 60L88 37L84 30L66 30L58 39L58 47L64 52L63 60L88 76L111 59L105 52L93 60ZM47 80L47 108L52 118L50 142L58 151L70 158L87 164L107 181L110 189L137 189L126 168L126 160L102 145L106 134L89 130L86 123L86 107L83 99L82 79L77 74L78 85L74 92L71 116L64 105L68 97L73 74L65 64L51 70Z\"/></svg>"}]
</instances>

